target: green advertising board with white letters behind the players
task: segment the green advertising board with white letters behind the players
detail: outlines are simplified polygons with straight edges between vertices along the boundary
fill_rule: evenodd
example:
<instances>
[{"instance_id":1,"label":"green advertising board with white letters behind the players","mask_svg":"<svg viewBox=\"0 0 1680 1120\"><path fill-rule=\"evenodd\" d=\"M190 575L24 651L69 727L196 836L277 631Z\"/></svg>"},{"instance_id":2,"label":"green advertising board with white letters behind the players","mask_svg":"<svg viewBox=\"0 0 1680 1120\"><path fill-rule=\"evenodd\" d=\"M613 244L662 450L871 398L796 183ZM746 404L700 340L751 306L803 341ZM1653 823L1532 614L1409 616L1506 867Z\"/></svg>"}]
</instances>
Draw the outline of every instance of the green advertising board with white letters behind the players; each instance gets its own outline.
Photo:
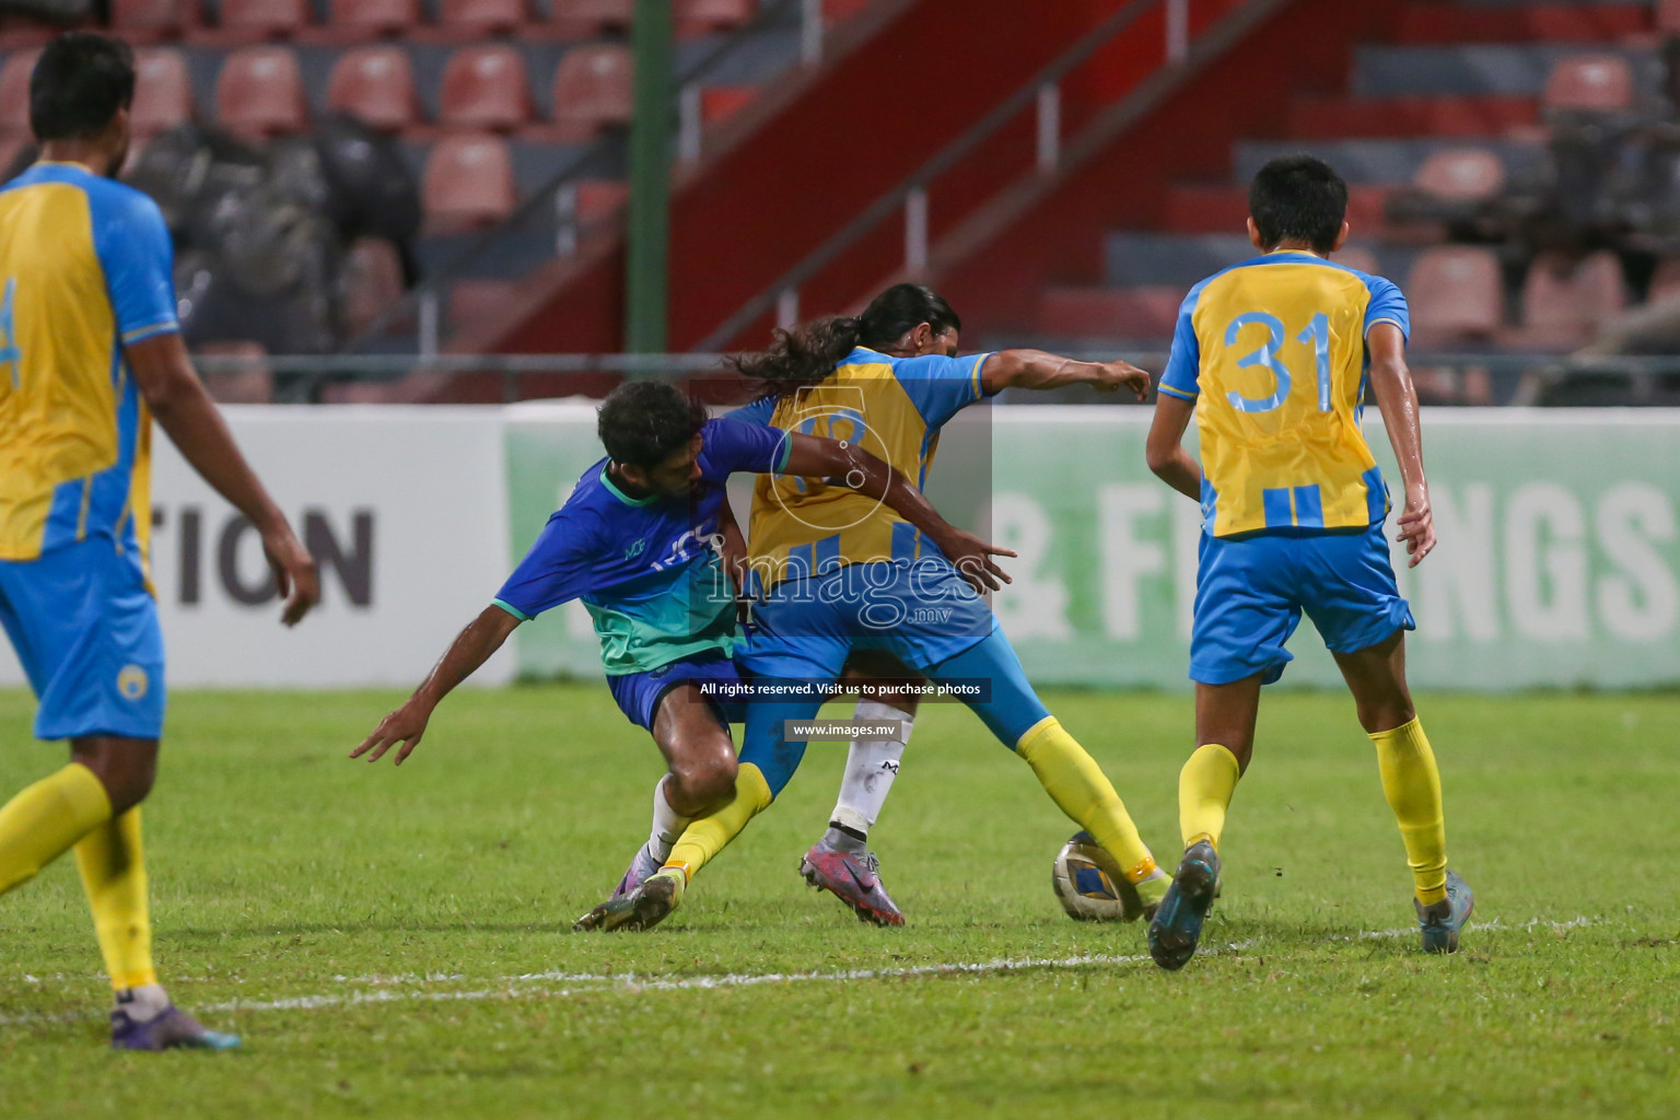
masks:
<instances>
[{"instance_id":1,"label":"green advertising board with white letters behind the players","mask_svg":"<svg viewBox=\"0 0 1680 1120\"><path fill-rule=\"evenodd\" d=\"M995 610L1035 682L1189 685L1198 507L1144 467L1147 421L1141 408L998 406L946 432L929 495L1020 552ZM600 445L578 406L511 410L506 432L517 557ZM1398 492L1374 415L1368 438ZM1680 683L1680 415L1430 410L1425 458L1441 544L1410 571L1396 554L1416 685ZM1339 682L1309 621L1290 650L1285 685ZM519 672L600 672L581 608L521 628Z\"/></svg>"}]
</instances>

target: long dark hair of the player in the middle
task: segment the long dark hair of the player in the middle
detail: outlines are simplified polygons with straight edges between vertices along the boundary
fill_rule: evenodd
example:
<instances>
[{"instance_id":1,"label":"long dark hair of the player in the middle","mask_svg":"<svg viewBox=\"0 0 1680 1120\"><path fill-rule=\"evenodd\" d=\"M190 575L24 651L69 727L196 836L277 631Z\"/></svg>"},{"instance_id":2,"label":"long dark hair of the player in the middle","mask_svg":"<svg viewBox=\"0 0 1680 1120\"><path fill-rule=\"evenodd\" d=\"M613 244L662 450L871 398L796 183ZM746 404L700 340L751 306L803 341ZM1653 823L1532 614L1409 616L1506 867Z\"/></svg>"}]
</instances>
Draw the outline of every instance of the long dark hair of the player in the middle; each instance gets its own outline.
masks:
<instances>
[{"instance_id":1,"label":"long dark hair of the player in the middle","mask_svg":"<svg viewBox=\"0 0 1680 1120\"><path fill-rule=\"evenodd\" d=\"M724 364L761 383L761 396L786 396L816 385L857 346L892 346L906 331L926 322L934 334L961 331L963 321L944 296L924 284L894 284L870 301L858 317L815 319L791 331L776 327L769 349L731 354Z\"/></svg>"}]
</instances>

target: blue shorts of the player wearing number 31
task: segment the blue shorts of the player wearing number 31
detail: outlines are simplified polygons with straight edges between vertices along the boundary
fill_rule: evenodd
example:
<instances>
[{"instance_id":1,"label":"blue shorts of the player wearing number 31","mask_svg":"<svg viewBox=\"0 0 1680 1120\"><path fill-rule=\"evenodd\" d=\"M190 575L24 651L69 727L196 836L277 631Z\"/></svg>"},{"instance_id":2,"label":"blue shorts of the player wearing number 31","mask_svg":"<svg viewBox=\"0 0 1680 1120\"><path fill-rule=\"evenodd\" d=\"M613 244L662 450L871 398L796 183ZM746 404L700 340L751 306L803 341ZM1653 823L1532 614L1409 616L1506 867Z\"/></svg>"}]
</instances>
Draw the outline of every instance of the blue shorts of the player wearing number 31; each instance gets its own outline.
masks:
<instances>
[{"instance_id":1,"label":"blue shorts of the player wearing number 31","mask_svg":"<svg viewBox=\"0 0 1680 1120\"><path fill-rule=\"evenodd\" d=\"M1415 630L1399 598L1383 522L1364 532L1260 534L1225 541L1203 534L1196 571L1196 621L1189 678L1225 685L1284 675L1284 645L1302 611L1332 653L1373 646Z\"/></svg>"}]
</instances>

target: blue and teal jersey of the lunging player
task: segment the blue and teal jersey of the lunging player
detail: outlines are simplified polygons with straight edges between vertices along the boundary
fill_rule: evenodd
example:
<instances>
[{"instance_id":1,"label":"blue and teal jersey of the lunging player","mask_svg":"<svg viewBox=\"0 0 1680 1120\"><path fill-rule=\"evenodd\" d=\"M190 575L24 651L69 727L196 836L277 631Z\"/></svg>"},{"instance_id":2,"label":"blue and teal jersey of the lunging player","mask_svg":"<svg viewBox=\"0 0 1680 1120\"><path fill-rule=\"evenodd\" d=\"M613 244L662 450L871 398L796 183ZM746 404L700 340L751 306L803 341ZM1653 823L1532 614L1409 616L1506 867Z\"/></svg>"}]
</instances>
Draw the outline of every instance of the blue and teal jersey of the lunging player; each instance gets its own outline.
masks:
<instances>
[{"instance_id":1,"label":"blue and teal jersey of the lunging player","mask_svg":"<svg viewBox=\"0 0 1680 1120\"><path fill-rule=\"evenodd\" d=\"M701 480L689 499L630 497L600 460L548 519L497 606L528 620L583 599L608 675L732 655L734 591L714 547L724 484L736 472L781 470L791 448L776 428L712 420L701 428Z\"/></svg>"}]
</instances>

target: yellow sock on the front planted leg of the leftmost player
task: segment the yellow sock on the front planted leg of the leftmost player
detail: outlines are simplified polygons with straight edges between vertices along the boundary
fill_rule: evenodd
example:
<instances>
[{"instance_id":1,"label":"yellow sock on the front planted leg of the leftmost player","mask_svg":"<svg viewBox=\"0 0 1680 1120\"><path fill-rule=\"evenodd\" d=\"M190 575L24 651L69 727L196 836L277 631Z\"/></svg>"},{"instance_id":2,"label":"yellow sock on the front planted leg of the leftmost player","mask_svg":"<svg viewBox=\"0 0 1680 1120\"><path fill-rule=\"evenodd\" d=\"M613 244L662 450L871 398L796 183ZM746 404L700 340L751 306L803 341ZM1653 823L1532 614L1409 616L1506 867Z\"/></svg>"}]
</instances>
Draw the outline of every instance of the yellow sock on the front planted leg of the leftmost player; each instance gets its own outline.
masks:
<instances>
[{"instance_id":1,"label":"yellow sock on the front planted leg of the leftmost player","mask_svg":"<svg viewBox=\"0 0 1680 1120\"><path fill-rule=\"evenodd\" d=\"M151 917L146 908L146 856L139 843L139 806L96 824L76 845L76 866L94 912L94 932L111 987L156 984L151 967Z\"/></svg>"}]
</instances>

